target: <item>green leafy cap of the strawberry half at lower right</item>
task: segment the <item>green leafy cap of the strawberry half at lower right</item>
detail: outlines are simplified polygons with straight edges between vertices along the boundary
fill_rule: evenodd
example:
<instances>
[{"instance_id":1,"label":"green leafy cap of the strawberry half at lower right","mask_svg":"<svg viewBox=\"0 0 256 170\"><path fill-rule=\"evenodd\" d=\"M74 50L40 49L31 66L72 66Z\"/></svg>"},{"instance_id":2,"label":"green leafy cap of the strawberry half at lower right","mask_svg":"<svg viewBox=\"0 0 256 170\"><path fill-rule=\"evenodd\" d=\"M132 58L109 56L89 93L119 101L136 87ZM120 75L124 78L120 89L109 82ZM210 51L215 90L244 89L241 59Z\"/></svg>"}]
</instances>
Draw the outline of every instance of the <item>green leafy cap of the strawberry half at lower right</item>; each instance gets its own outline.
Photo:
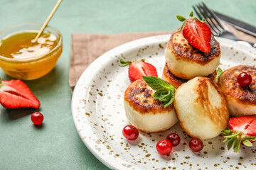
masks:
<instances>
[{"instance_id":1,"label":"green leafy cap of the strawberry half at lower right","mask_svg":"<svg viewBox=\"0 0 256 170\"><path fill-rule=\"evenodd\" d=\"M239 151L241 142L247 147L252 147L252 142L250 142L250 140L256 140L256 137L244 135L242 132L237 132L233 130L221 130L221 132L227 135L224 136L225 140L223 140L223 143L227 142L228 150L233 147L234 152Z\"/></svg>"}]
</instances>

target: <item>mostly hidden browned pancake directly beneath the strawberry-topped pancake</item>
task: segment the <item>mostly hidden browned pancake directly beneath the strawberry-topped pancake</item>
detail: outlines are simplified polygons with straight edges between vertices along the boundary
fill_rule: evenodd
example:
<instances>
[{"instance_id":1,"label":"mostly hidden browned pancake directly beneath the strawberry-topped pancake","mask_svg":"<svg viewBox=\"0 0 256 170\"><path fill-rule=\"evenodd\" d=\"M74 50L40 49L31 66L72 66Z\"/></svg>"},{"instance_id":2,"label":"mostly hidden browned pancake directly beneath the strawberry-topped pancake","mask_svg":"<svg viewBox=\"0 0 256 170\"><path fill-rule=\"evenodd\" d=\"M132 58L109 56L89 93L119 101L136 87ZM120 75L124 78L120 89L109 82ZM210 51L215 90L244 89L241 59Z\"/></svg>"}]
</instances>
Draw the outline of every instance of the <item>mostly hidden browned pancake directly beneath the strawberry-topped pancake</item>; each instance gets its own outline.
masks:
<instances>
[{"instance_id":1,"label":"mostly hidden browned pancake directly beneath the strawberry-topped pancake","mask_svg":"<svg viewBox=\"0 0 256 170\"><path fill-rule=\"evenodd\" d=\"M213 72L213 74L208 75L208 77L213 80L215 79L216 76L216 70ZM181 84L186 83L188 81L188 79L181 79L179 77L174 76L174 74L172 74L171 71L169 70L167 64L164 66L163 79L169 82L169 84L173 85L176 89L178 88L178 86L181 86Z\"/></svg>"}]
</instances>

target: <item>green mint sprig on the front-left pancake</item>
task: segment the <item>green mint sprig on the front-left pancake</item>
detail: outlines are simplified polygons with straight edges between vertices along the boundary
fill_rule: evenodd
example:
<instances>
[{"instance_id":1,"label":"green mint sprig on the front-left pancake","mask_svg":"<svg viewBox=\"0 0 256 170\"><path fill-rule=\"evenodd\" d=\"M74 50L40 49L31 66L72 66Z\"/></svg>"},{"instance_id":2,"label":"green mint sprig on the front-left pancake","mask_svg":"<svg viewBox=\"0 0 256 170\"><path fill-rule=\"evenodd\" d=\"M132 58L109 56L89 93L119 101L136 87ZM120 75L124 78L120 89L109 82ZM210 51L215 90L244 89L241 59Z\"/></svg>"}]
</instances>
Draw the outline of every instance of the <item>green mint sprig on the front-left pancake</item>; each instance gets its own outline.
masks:
<instances>
[{"instance_id":1,"label":"green mint sprig on the front-left pancake","mask_svg":"<svg viewBox=\"0 0 256 170\"><path fill-rule=\"evenodd\" d=\"M154 94L154 99L162 101L164 103L164 108L169 106L174 101L174 86L158 77L142 76L142 78L146 81L148 86L156 91Z\"/></svg>"}]
</instances>

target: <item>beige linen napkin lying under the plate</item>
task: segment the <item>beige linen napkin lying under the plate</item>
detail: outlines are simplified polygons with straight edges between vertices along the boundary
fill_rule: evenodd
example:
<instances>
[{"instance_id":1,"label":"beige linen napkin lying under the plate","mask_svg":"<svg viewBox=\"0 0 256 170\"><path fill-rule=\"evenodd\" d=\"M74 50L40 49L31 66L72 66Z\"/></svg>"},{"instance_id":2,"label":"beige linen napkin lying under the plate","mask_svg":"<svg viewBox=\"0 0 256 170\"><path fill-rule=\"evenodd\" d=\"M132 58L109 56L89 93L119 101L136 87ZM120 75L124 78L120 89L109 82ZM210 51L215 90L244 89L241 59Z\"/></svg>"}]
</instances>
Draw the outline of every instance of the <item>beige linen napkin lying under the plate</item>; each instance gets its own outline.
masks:
<instances>
[{"instance_id":1,"label":"beige linen napkin lying under the plate","mask_svg":"<svg viewBox=\"0 0 256 170\"><path fill-rule=\"evenodd\" d=\"M255 43L256 38L228 26L230 30L240 39ZM145 38L153 35L171 34L171 31L150 33L120 33L116 35L73 33L70 49L69 84L73 91L82 72L97 57L104 54L113 47L125 42Z\"/></svg>"}]
</instances>

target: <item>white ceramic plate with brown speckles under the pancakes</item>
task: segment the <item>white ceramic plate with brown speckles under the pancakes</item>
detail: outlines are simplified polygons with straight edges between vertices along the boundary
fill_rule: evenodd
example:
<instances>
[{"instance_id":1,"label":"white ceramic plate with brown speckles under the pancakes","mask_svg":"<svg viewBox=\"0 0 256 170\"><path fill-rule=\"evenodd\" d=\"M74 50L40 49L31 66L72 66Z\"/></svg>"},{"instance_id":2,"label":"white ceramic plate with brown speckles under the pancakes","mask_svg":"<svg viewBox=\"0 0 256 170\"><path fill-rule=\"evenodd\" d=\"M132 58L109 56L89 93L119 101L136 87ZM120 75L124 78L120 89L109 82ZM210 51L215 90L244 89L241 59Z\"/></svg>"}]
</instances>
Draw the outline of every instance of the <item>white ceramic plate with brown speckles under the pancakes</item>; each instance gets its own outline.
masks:
<instances>
[{"instance_id":1,"label":"white ceramic plate with brown speckles under the pancakes","mask_svg":"<svg viewBox=\"0 0 256 170\"><path fill-rule=\"evenodd\" d=\"M72 98L75 127L90 152L111 169L256 169L256 147L228 151L223 137L204 140L203 150L193 153L190 137L177 123L166 132L146 134L129 142L122 135L128 125L123 107L123 94L130 82L128 67L119 67L119 60L141 60L154 64L161 77L164 68L164 47L170 35L159 35L128 42L106 52L83 72ZM221 47L222 69L238 64L256 64L256 50L238 42L216 38ZM170 156L156 152L156 142L176 132L181 144Z\"/></svg>"}]
</instances>

